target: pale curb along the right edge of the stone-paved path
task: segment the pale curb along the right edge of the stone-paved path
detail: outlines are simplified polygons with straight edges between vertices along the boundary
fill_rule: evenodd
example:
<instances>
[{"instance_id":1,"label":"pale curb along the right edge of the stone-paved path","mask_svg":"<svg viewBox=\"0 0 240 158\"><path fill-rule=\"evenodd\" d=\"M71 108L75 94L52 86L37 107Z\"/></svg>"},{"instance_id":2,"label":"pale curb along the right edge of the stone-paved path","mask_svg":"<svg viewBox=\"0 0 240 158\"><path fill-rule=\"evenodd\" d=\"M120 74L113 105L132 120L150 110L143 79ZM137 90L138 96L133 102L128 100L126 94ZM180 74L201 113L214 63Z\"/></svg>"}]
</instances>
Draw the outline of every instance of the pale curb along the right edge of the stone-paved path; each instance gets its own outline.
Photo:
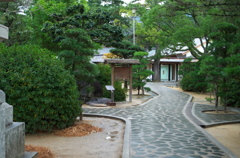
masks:
<instances>
[{"instance_id":1,"label":"pale curb along the right edge of the stone-paved path","mask_svg":"<svg viewBox=\"0 0 240 158\"><path fill-rule=\"evenodd\" d=\"M184 92L181 92L184 93ZM187 93L185 93L187 94ZM197 125L195 122L192 121L191 118L188 117L187 115L187 110L191 110L192 109L188 109L188 105L192 100L192 95L187 94L190 96L191 99L189 99L186 103L186 105L183 108L183 115L185 116L186 119L188 119L188 121L193 124L199 131L201 131L209 140L211 140L214 144L216 144L216 146L218 146L221 150L223 150L228 156L230 156L231 158L238 158L238 156L236 156L233 152L231 152L228 148L226 148L225 146L223 146L218 140L216 140L212 135L210 135L208 132L206 132L202 127L200 127L199 125ZM197 117L198 118L198 117ZM199 119L199 118L198 118Z\"/></svg>"}]
</instances>

